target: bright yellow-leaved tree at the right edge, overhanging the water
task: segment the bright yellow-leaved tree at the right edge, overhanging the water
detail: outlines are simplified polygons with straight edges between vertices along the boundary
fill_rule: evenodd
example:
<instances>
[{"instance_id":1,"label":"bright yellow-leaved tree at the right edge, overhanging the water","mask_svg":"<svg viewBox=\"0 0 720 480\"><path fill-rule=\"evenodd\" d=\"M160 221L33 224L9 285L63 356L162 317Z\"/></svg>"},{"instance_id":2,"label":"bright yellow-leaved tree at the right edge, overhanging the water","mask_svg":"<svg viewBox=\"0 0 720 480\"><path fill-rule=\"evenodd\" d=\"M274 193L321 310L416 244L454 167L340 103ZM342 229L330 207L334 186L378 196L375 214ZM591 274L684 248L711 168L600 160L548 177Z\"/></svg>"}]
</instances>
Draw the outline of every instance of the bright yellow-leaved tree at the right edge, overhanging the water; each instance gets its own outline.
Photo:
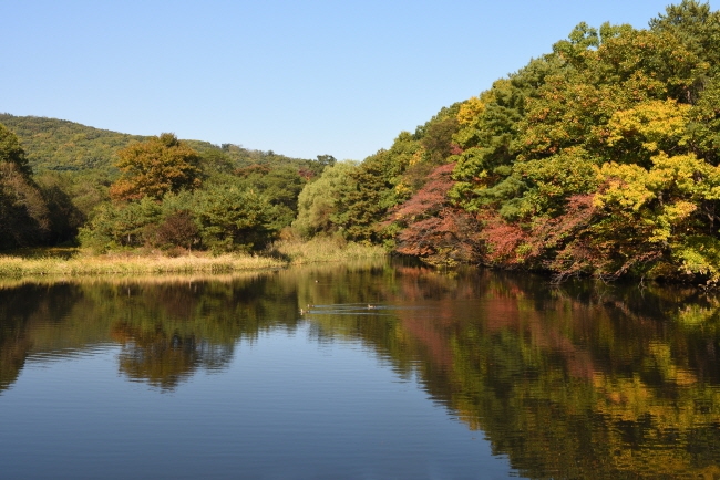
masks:
<instances>
[{"instance_id":1,"label":"bright yellow-leaved tree at the right edge, overhanging the water","mask_svg":"<svg viewBox=\"0 0 720 480\"><path fill-rule=\"evenodd\" d=\"M608 163L599 169L604 187L595 196L603 220L595 230L638 252L665 252L655 269L664 275L702 275L720 281L720 243L707 209L720 199L720 167L692 154L660 153L646 169ZM707 218L710 217L710 221Z\"/></svg>"}]
</instances>

